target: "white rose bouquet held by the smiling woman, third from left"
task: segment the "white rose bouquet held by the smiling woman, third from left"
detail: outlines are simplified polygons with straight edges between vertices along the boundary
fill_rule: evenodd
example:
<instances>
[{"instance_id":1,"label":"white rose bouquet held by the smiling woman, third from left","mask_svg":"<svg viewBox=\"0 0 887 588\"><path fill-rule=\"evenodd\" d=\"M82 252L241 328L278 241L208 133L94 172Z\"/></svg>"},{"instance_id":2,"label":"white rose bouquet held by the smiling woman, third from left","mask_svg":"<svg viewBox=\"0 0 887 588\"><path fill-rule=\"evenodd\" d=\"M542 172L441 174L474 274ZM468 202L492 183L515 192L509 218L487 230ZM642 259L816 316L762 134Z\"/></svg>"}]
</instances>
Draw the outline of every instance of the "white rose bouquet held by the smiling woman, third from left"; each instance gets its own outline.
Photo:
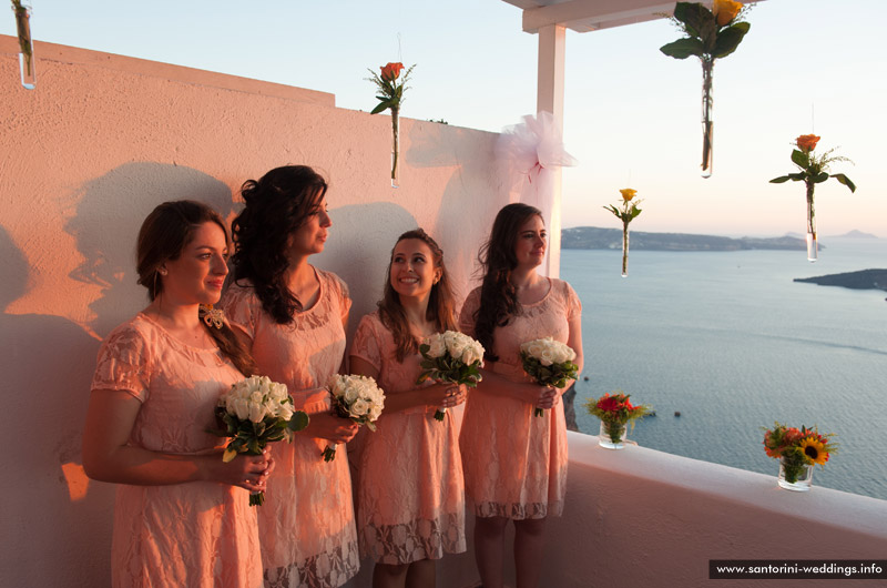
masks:
<instances>
[{"instance_id":1,"label":"white rose bouquet held by the smiling woman, third from left","mask_svg":"<svg viewBox=\"0 0 887 588\"><path fill-rule=\"evenodd\" d=\"M473 388L481 381L483 346L468 335L457 331L436 333L419 345L419 353L424 371L418 384L431 378ZM446 414L446 408L438 408L435 418L443 420Z\"/></svg>"}]
</instances>

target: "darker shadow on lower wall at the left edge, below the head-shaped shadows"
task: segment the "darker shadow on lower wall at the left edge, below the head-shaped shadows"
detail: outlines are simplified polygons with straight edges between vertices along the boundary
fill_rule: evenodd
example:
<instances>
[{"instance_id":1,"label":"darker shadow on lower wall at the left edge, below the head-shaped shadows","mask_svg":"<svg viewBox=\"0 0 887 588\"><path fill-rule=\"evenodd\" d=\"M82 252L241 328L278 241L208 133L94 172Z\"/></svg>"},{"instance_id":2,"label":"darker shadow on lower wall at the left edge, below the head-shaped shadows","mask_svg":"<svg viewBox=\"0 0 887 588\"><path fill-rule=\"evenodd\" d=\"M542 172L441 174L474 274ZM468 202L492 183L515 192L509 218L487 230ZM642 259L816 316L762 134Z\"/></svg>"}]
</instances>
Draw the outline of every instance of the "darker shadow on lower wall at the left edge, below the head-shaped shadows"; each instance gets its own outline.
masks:
<instances>
[{"instance_id":1,"label":"darker shadow on lower wall at the left edge, below the head-shaped shadows","mask_svg":"<svg viewBox=\"0 0 887 588\"><path fill-rule=\"evenodd\" d=\"M90 584L110 571L113 510L112 488L91 483L80 459L99 342L67 318L8 314L29 266L2 227L0 258L0 585L58 586L59 574Z\"/></svg>"}]
</instances>

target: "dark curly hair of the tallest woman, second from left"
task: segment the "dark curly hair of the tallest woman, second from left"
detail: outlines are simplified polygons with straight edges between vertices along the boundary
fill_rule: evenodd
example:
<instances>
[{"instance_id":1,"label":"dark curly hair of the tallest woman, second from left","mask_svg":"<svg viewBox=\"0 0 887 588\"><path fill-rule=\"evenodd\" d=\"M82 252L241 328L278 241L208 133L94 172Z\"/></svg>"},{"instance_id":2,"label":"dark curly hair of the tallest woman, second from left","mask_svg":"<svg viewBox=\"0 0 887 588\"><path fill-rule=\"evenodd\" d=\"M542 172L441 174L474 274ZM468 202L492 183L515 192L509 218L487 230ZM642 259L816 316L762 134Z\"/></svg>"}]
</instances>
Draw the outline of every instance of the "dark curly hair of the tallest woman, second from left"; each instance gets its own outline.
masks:
<instances>
[{"instance_id":1,"label":"dark curly hair of the tallest woman, second from left","mask_svg":"<svg viewBox=\"0 0 887 588\"><path fill-rule=\"evenodd\" d=\"M231 224L234 281L249 280L262 308L278 324L292 323L302 311L284 282L289 236L315 212L327 187L307 165L275 168L241 187L246 206Z\"/></svg>"}]
</instances>

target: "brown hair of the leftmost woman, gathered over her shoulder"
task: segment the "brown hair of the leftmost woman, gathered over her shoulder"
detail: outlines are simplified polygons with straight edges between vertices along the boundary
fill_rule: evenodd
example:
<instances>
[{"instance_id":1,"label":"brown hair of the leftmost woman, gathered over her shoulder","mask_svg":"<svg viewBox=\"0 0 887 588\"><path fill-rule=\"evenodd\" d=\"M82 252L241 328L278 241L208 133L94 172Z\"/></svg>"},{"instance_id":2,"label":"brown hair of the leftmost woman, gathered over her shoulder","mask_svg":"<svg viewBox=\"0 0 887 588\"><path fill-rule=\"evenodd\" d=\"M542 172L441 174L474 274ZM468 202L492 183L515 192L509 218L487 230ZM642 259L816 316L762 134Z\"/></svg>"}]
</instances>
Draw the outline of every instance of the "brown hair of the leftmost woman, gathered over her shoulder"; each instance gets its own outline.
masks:
<instances>
[{"instance_id":1,"label":"brown hair of the leftmost woman, gathered over her shoulder","mask_svg":"<svg viewBox=\"0 0 887 588\"><path fill-rule=\"evenodd\" d=\"M204 223L215 223L225 234L225 243L231 245L225 222L213 209L192 200L164 202L154 209L142 223L136 244L136 265L139 284L147 288L147 297L153 301L163 295L161 266L177 260L194 239L194 232ZM251 376L257 372L249 352L241 344L227 323L222 328L210 326L203 321L210 336L218 349L242 374Z\"/></svg>"}]
</instances>

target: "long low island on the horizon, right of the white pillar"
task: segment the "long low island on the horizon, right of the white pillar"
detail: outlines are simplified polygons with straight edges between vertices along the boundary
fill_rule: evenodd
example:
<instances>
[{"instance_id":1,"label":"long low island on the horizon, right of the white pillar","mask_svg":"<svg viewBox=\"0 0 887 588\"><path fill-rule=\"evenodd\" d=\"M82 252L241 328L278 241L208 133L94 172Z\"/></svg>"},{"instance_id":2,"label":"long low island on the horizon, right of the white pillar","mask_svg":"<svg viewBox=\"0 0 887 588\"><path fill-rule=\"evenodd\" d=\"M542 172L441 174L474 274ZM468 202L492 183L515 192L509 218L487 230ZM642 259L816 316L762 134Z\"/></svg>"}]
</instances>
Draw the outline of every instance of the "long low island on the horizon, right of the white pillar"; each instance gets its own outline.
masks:
<instances>
[{"instance_id":1,"label":"long low island on the horizon, right of the white pillar","mask_svg":"<svg viewBox=\"0 0 887 588\"><path fill-rule=\"evenodd\" d=\"M561 247L565 250L621 250L622 231L598 226L577 226L561 231ZM641 251L747 251L806 250L803 239L795 236L731 239L686 233L631 232L631 249ZM820 243L819 249L825 246ZM887 282L885 282L887 283Z\"/></svg>"}]
</instances>

